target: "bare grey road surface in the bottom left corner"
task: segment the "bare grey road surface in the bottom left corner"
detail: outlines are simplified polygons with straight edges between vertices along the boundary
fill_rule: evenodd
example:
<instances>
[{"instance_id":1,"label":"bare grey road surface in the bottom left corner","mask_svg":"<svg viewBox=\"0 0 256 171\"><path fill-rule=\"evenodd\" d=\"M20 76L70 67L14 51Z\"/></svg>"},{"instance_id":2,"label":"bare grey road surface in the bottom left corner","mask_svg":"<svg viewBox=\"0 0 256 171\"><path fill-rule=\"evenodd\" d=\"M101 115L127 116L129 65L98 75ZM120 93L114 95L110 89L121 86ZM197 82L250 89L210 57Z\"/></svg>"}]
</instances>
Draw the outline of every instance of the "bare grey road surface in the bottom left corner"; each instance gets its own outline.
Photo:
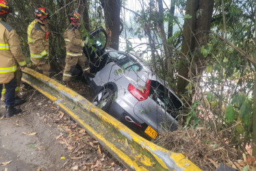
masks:
<instances>
[{"instance_id":1,"label":"bare grey road surface in the bottom left corner","mask_svg":"<svg viewBox=\"0 0 256 171\"><path fill-rule=\"evenodd\" d=\"M1 103L0 113L5 112ZM31 117L31 116L30 116ZM27 121L30 124L27 123ZM36 127L33 125L36 124ZM64 161L61 156L65 150L55 142L49 129L44 124L33 122L29 116L19 114L0 120L0 170L61 170ZM41 129L43 133L39 133ZM30 133L30 134L29 134ZM36 133L34 135L34 133ZM43 137L43 138L42 138ZM51 146L54 145L54 146ZM6 163L11 161L10 163ZM6 166L1 166L6 163Z\"/></svg>"}]
</instances>

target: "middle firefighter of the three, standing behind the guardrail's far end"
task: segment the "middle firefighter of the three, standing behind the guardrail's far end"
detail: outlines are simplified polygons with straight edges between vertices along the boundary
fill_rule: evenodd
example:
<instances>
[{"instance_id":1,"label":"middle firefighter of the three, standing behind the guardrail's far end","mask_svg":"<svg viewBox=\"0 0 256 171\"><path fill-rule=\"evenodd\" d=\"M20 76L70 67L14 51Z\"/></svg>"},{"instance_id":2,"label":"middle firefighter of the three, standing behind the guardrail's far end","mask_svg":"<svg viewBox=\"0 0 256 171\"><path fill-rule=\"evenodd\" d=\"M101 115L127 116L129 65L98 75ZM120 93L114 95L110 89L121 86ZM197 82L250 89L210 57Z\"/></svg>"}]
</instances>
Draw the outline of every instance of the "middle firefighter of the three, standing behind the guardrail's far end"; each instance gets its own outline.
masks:
<instances>
[{"instance_id":1,"label":"middle firefighter of the three, standing behind the guardrail's far end","mask_svg":"<svg viewBox=\"0 0 256 171\"><path fill-rule=\"evenodd\" d=\"M27 27L27 44L29 44L30 59L36 71L49 77L49 32L47 20L49 11L45 8L35 10L36 19Z\"/></svg>"}]
</instances>

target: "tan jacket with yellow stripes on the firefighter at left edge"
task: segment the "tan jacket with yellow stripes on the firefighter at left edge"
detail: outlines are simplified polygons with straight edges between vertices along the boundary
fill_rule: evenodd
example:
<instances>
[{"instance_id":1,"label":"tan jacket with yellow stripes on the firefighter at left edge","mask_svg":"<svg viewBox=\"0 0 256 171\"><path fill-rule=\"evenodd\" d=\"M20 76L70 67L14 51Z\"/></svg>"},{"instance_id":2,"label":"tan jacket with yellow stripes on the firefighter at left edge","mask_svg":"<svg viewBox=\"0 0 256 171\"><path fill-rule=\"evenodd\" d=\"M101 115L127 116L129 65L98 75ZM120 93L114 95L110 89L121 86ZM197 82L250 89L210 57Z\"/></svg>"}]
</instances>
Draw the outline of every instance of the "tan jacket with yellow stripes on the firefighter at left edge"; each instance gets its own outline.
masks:
<instances>
[{"instance_id":1,"label":"tan jacket with yellow stripes on the firefighter at left edge","mask_svg":"<svg viewBox=\"0 0 256 171\"><path fill-rule=\"evenodd\" d=\"M9 83L18 66L25 66L18 35L14 28L0 18L0 83Z\"/></svg>"}]
</instances>

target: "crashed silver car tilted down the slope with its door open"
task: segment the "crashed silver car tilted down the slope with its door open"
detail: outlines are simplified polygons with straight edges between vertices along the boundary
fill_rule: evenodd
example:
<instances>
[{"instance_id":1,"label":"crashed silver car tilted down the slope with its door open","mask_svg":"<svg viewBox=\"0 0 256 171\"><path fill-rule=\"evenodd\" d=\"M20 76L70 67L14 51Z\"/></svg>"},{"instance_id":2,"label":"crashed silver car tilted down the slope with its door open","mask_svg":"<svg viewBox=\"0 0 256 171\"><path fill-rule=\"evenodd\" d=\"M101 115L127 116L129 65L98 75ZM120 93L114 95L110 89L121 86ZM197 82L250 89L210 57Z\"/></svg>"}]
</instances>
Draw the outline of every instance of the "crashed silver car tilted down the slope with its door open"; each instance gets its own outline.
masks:
<instances>
[{"instance_id":1,"label":"crashed silver car tilted down the slope with its door open","mask_svg":"<svg viewBox=\"0 0 256 171\"><path fill-rule=\"evenodd\" d=\"M103 28L93 31L93 46L84 52L90 57L90 88L96 94L92 103L135 131L151 138L159 131L177 129L177 116L183 103L166 82L131 53L105 49ZM88 79L88 78L87 78Z\"/></svg>"}]
</instances>

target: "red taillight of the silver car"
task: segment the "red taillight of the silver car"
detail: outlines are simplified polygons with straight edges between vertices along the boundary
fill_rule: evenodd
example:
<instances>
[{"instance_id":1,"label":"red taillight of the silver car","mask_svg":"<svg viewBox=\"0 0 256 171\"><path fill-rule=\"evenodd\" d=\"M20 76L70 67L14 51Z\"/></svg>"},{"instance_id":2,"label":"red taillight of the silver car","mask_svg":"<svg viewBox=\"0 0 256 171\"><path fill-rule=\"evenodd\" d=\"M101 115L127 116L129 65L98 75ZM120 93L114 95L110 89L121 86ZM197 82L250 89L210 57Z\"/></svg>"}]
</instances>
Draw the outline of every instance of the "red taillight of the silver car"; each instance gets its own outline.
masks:
<instances>
[{"instance_id":1,"label":"red taillight of the silver car","mask_svg":"<svg viewBox=\"0 0 256 171\"><path fill-rule=\"evenodd\" d=\"M133 94L133 96L135 96L138 99L138 101L144 101L149 96L150 83L151 81L149 79L146 80L146 89L144 90L138 90L133 85L131 85L131 83L129 83L128 90L131 94Z\"/></svg>"}]
</instances>

